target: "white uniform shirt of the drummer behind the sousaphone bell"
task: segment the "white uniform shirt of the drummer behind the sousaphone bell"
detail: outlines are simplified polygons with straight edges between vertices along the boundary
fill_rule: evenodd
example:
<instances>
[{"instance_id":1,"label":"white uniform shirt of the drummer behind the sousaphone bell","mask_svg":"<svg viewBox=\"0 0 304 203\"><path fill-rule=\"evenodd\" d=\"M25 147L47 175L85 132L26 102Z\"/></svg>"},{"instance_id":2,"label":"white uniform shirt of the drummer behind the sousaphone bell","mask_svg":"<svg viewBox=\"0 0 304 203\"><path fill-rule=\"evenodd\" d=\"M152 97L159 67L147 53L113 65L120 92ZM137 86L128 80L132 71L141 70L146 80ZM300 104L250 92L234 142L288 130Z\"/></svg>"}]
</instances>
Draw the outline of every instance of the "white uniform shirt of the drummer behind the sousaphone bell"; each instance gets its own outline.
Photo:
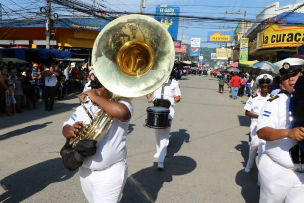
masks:
<instances>
[{"instance_id":1,"label":"white uniform shirt of the drummer behind the sousaphone bell","mask_svg":"<svg viewBox=\"0 0 304 203\"><path fill-rule=\"evenodd\" d=\"M165 83L168 83L169 78L166 80ZM160 99L161 98L161 87L159 87L157 90L155 90L152 94L153 101L155 99ZM179 84L177 80L172 79L171 85L170 86L165 86L164 89L164 99L168 99L171 102L171 106L175 106L174 103L174 97L175 96L181 96L181 90L179 89ZM169 95L169 96L168 96ZM171 97L170 97L171 96Z\"/></svg>"}]
</instances>

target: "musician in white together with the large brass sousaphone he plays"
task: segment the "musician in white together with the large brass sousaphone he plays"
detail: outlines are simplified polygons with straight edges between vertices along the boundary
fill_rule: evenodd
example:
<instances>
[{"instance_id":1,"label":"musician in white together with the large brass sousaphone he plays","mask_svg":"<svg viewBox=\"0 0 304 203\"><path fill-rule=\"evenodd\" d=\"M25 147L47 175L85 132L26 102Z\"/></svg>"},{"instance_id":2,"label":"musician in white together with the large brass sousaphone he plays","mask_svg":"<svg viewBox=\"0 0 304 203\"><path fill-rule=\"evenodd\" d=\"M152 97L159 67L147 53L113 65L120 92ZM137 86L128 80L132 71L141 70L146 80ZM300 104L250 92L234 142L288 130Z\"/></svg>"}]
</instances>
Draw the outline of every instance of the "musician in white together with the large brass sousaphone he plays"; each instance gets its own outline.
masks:
<instances>
[{"instance_id":1,"label":"musician in white together with the large brass sousaphone he plays","mask_svg":"<svg viewBox=\"0 0 304 203\"><path fill-rule=\"evenodd\" d=\"M90 98L64 123L68 138L60 151L64 166L79 168L81 187L91 202L119 202L128 168L126 135L133 107L130 100L155 91L174 65L168 30L143 15L109 22L92 49L95 79ZM96 145L96 146L95 146Z\"/></svg>"}]
</instances>

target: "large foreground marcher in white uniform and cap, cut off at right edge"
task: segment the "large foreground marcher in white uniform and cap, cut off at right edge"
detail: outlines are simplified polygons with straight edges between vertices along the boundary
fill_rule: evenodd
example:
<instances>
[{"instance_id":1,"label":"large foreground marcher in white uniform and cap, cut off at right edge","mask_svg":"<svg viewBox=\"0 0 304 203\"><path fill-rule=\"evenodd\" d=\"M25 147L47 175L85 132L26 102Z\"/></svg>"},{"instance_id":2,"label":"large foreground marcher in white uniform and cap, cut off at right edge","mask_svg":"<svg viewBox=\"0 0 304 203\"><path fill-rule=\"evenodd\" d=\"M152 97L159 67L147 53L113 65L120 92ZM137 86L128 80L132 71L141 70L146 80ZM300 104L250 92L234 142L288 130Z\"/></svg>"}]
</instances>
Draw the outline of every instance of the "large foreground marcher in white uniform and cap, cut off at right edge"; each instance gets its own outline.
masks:
<instances>
[{"instance_id":1,"label":"large foreground marcher in white uniform and cap, cut off at right edge","mask_svg":"<svg viewBox=\"0 0 304 203\"><path fill-rule=\"evenodd\" d=\"M298 80L304 60L285 59L279 69L285 88L268 100L257 120L257 135L266 141L266 153L259 163L260 202L304 202L304 170L292 161L289 150L304 139L304 128L291 129L290 93Z\"/></svg>"}]
</instances>

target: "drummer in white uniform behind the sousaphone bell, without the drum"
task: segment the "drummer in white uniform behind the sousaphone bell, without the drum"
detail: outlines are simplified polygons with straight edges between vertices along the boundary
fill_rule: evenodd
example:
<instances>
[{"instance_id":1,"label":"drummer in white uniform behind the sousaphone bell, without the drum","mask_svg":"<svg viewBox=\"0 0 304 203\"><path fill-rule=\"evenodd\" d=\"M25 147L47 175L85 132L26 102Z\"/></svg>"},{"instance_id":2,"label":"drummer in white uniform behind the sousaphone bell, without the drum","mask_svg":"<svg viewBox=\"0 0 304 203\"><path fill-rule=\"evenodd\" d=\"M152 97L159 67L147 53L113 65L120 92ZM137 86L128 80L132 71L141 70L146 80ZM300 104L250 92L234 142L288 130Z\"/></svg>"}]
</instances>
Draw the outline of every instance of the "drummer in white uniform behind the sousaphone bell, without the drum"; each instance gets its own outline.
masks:
<instances>
[{"instance_id":1,"label":"drummer in white uniform behind the sousaphone bell, without the drum","mask_svg":"<svg viewBox=\"0 0 304 203\"><path fill-rule=\"evenodd\" d=\"M178 81L170 76L161 87L159 87L152 94L147 94L146 96L148 103L153 101L154 106L160 106L157 104L157 101L160 101L159 99L169 100L171 104L169 106L170 113L168 119L171 119L172 122L174 117L175 102L181 101L181 90L179 88ZM158 158L157 168L159 169L164 169L164 158L166 156L167 146L169 144L170 129L170 126L165 129L154 129L156 138L156 154L154 155L154 158Z\"/></svg>"}]
</instances>

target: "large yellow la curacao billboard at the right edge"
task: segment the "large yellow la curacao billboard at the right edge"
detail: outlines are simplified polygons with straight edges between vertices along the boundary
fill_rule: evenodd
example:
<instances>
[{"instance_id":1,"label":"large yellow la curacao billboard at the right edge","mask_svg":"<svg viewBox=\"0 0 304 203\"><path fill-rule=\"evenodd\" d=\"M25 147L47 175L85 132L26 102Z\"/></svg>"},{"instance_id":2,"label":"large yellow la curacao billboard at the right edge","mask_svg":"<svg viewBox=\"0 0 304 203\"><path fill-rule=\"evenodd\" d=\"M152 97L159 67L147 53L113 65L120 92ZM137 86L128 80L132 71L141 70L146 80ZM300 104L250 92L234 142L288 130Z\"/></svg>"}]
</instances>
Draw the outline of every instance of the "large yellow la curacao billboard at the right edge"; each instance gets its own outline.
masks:
<instances>
[{"instance_id":1,"label":"large yellow la curacao billboard at the right edge","mask_svg":"<svg viewBox=\"0 0 304 203\"><path fill-rule=\"evenodd\" d=\"M269 24L258 34L258 48L298 47L304 43L304 27Z\"/></svg>"}]
</instances>

